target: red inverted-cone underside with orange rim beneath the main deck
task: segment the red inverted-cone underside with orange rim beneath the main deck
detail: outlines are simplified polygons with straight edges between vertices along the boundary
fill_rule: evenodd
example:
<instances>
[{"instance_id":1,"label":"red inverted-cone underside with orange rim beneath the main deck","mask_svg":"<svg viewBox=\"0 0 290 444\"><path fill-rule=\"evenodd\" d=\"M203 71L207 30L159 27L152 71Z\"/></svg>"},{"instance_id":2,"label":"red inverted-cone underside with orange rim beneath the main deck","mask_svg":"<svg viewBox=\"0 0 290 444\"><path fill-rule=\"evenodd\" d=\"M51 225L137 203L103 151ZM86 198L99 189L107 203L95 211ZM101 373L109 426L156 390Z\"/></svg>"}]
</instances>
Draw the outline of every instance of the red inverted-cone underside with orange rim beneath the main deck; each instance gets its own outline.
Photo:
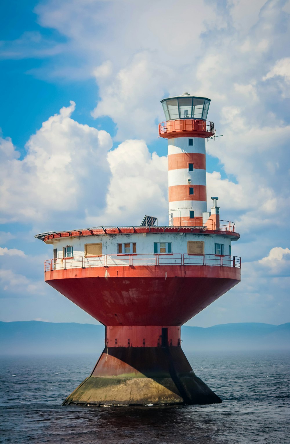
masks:
<instances>
[{"instance_id":1,"label":"red inverted-cone underside with orange rim beneath the main deck","mask_svg":"<svg viewBox=\"0 0 290 444\"><path fill-rule=\"evenodd\" d=\"M45 281L104 325L179 326L236 285L240 272L209 265L67 268L47 271Z\"/></svg>"}]
</instances>

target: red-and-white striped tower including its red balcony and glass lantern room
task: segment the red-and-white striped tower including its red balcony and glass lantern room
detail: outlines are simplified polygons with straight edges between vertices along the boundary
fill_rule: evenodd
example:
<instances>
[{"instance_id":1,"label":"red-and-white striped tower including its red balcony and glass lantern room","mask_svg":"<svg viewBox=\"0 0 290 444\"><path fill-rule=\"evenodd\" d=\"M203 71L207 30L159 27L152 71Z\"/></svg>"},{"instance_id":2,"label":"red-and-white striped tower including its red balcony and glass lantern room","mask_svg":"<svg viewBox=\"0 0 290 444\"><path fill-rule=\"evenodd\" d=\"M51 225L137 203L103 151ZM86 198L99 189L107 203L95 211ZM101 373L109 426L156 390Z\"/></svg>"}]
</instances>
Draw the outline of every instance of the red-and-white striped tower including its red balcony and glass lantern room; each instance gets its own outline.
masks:
<instances>
[{"instance_id":1,"label":"red-and-white striped tower including its red balcony and glass lantern room","mask_svg":"<svg viewBox=\"0 0 290 444\"><path fill-rule=\"evenodd\" d=\"M209 218L205 139L214 135L206 120L210 99L184 92L161 103L167 119L159 124L159 135L168 139L169 225L204 225Z\"/></svg>"}]
</instances>

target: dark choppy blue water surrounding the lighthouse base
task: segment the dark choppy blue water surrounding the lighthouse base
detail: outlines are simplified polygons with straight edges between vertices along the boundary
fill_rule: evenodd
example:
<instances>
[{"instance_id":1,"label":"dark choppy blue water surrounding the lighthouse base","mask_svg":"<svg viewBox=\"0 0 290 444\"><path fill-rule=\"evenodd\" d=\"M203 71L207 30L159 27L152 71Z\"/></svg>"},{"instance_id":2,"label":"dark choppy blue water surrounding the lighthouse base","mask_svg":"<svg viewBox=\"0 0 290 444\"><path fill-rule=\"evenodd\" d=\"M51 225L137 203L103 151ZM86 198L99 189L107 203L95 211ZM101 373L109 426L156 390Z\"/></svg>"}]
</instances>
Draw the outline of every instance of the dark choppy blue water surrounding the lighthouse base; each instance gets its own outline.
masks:
<instances>
[{"instance_id":1,"label":"dark choppy blue water surrounding the lighthouse base","mask_svg":"<svg viewBox=\"0 0 290 444\"><path fill-rule=\"evenodd\" d=\"M97 356L1 357L0 442L290 443L289 352L187 356L222 404L62 407Z\"/></svg>"}]
</instances>

